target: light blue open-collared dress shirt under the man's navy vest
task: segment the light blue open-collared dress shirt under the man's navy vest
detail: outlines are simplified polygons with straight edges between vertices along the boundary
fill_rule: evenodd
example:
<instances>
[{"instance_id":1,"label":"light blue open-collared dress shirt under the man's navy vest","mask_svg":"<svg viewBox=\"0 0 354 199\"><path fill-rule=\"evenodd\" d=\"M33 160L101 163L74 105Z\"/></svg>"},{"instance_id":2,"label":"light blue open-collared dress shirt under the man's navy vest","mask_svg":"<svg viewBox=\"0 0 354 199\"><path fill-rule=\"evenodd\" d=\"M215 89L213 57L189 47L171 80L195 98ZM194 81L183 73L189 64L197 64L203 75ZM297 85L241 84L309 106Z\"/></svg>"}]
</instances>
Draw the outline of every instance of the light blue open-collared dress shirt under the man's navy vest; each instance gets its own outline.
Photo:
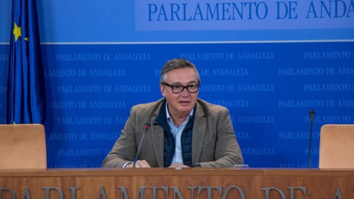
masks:
<instances>
[{"instance_id":1,"label":"light blue open-collared dress shirt under the man's navy vest","mask_svg":"<svg viewBox=\"0 0 354 199\"><path fill-rule=\"evenodd\" d=\"M189 119L192 117L192 115L193 115L193 109L192 109L192 111L190 111L190 113L188 114L185 121L179 127L177 127L175 124L173 124L173 121L172 121L172 118L171 118L170 113L168 111L167 103L166 103L167 123L170 126L170 130L171 130L171 133L173 134L173 137L175 138L175 145L176 145L175 154L173 155L171 164L173 164L173 163L183 164L181 136L182 136L182 132L183 132L185 125L187 125L187 123L188 123Z\"/></svg>"}]
</instances>

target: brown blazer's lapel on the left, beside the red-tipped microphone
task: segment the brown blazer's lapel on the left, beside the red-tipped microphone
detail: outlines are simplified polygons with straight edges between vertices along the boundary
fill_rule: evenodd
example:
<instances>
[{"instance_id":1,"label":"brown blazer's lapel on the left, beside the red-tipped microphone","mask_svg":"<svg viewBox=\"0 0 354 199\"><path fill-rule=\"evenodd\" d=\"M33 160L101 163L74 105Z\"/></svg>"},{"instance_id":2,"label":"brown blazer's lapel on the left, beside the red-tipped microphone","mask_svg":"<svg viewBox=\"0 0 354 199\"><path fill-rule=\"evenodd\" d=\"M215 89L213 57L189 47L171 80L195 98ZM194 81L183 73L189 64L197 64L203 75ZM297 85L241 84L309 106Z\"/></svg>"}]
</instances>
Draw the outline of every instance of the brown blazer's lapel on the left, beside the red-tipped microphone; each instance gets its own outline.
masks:
<instances>
[{"instance_id":1,"label":"brown blazer's lapel on the left, beside the red-tipped microphone","mask_svg":"<svg viewBox=\"0 0 354 199\"><path fill-rule=\"evenodd\" d=\"M154 124L156 115L159 114L159 111L160 108L155 111L155 117L151 118L151 124ZM164 128L162 128L160 125L152 125L150 128L152 132L153 145L157 163L159 167L164 167Z\"/></svg>"}]
</instances>

